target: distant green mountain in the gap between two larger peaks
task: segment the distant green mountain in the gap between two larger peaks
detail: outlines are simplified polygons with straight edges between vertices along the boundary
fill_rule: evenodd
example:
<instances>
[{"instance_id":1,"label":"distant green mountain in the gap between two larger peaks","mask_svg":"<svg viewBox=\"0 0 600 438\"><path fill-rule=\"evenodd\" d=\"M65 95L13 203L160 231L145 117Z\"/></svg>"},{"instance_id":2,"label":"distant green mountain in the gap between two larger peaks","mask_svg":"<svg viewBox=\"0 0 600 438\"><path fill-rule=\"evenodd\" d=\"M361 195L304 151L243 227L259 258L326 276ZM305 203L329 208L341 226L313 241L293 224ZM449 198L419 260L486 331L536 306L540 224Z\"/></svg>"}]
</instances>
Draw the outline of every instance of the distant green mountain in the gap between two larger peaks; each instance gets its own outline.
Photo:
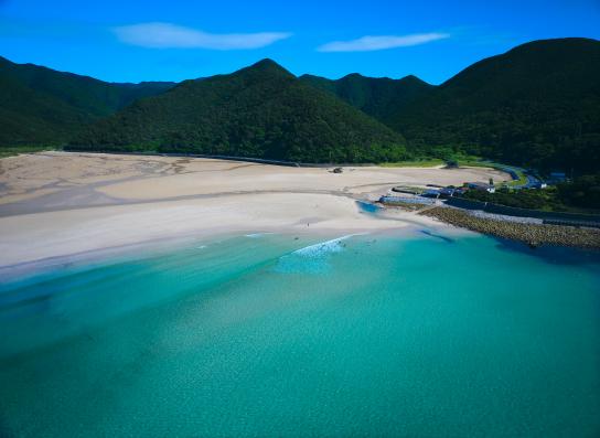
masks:
<instances>
[{"instance_id":1,"label":"distant green mountain in the gap between two larger peaks","mask_svg":"<svg viewBox=\"0 0 600 438\"><path fill-rule=\"evenodd\" d=\"M338 81L313 75L303 75L300 81L333 93L383 122L388 122L390 116L435 89L435 86L416 76L390 79L388 77L365 77L353 73Z\"/></svg>"}]
</instances>

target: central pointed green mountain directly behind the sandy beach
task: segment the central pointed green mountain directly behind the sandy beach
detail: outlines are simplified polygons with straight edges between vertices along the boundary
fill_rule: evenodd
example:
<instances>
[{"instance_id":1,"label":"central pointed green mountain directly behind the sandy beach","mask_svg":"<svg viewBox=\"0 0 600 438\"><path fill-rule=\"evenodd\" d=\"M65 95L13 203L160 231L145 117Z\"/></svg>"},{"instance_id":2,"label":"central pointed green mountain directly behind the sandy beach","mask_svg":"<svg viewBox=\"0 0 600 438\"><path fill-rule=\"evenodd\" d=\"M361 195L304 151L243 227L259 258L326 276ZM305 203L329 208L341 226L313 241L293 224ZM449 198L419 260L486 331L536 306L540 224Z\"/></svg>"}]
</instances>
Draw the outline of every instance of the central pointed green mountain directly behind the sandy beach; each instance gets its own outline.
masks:
<instances>
[{"instance_id":1,"label":"central pointed green mountain directly behind the sandy beach","mask_svg":"<svg viewBox=\"0 0 600 438\"><path fill-rule=\"evenodd\" d=\"M401 135L270 60L137 100L86 129L69 148L303 162L407 157Z\"/></svg>"}]
</instances>

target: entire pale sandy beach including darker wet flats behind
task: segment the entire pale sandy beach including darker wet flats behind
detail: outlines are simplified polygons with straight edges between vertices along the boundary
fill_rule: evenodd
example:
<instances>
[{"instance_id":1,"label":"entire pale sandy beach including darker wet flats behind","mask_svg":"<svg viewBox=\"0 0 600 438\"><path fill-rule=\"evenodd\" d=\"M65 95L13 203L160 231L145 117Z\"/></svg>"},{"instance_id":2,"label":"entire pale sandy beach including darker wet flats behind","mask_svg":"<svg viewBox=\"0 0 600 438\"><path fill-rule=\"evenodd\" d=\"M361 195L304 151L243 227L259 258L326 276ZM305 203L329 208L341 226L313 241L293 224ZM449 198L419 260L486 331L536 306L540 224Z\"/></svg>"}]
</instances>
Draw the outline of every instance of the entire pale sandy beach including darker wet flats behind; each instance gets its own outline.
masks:
<instances>
[{"instance_id":1,"label":"entire pale sandy beach including darker wet flats behind","mask_svg":"<svg viewBox=\"0 0 600 438\"><path fill-rule=\"evenodd\" d=\"M399 184L507 180L493 169L287 168L173 157L42 152L0 160L0 267L185 235L358 233L444 226L365 214Z\"/></svg>"}]
</instances>

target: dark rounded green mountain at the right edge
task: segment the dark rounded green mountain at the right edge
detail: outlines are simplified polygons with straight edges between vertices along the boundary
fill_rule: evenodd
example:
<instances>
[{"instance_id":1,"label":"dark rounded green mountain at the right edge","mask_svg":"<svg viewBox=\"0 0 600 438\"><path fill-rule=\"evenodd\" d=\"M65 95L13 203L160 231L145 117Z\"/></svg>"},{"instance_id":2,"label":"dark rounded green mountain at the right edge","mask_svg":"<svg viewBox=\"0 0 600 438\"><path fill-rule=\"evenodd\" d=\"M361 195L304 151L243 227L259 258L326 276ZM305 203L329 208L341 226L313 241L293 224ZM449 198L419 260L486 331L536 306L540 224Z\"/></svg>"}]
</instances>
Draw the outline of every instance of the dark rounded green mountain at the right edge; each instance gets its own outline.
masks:
<instances>
[{"instance_id":1,"label":"dark rounded green mountain at the right edge","mask_svg":"<svg viewBox=\"0 0 600 438\"><path fill-rule=\"evenodd\" d=\"M384 118L440 147L576 173L600 169L600 42L535 41L478 62Z\"/></svg>"}]
</instances>

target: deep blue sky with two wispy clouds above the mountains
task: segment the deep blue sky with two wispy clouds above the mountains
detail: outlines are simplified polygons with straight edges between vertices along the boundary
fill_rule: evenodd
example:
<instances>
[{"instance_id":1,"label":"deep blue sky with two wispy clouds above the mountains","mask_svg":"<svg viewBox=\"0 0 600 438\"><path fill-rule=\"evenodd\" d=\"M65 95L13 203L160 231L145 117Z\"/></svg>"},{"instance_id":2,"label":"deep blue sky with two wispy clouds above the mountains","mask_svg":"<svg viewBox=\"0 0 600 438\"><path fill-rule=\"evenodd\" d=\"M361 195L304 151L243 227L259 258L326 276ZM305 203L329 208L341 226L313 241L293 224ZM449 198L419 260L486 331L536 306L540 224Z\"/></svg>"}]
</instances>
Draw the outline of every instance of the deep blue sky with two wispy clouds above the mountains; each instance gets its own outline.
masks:
<instances>
[{"instance_id":1,"label":"deep blue sky with two wispy clouds above the mountains","mask_svg":"<svg viewBox=\"0 0 600 438\"><path fill-rule=\"evenodd\" d=\"M331 78L439 84L548 38L600 39L600 0L0 0L0 55L104 81L181 81L271 57Z\"/></svg>"}]
</instances>

